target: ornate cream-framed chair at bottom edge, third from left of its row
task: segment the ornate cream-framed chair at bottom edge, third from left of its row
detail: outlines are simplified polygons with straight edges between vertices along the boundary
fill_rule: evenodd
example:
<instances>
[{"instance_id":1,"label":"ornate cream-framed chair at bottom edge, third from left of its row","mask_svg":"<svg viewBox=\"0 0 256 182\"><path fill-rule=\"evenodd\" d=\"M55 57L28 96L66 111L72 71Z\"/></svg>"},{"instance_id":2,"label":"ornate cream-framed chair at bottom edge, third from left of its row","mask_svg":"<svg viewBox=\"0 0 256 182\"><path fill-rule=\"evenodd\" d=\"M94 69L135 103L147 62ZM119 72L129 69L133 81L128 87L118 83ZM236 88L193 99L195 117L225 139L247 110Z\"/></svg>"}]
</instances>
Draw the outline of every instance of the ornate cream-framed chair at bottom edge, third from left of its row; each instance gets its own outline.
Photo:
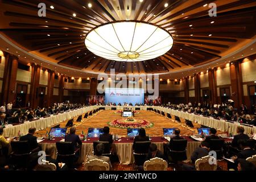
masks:
<instances>
[{"instance_id":1,"label":"ornate cream-framed chair at bottom edge, third from left of its row","mask_svg":"<svg viewBox=\"0 0 256 182\"><path fill-rule=\"evenodd\" d=\"M168 164L161 158L147 160L143 164L144 171L167 171Z\"/></svg>"}]
</instances>

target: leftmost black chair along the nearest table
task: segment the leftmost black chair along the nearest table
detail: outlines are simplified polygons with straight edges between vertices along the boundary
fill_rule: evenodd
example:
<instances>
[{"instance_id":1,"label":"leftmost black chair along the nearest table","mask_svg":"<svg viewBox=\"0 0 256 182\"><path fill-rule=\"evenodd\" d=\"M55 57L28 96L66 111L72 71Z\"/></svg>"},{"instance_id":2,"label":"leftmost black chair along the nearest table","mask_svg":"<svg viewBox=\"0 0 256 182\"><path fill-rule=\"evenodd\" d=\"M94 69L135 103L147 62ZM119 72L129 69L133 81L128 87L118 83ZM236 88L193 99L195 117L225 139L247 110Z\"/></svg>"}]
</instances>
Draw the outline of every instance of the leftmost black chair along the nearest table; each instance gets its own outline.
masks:
<instances>
[{"instance_id":1,"label":"leftmost black chair along the nearest table","mask_svg":"<svg viewBox=\"0 0 256 182\"><path fill-rule=\"evenodd\" d=\"M28 141L11 141L11 161L17 168L27 169L30 163L30 144Z\"/></svg>"}]
</instances>

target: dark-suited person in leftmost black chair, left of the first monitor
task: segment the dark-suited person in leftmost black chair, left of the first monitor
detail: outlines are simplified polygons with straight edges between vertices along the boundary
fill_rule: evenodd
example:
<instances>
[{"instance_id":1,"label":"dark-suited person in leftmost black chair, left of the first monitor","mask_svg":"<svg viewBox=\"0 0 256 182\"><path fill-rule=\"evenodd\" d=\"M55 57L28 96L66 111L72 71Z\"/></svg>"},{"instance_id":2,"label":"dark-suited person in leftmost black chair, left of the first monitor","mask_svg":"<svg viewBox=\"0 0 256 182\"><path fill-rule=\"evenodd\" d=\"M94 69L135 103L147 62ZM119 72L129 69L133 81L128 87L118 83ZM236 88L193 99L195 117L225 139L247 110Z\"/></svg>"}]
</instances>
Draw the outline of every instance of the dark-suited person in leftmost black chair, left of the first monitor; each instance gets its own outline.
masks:
<instances>
[{"instance_id":1,"label":"dark-suited person in leftmost black chair, left of the first monitor","mask_svg":"<svg viewBox=\"0 0 256 182\"><path fill-rule=\"evenodd\" d=\"M40 150L40 147L38 146L38 141L36 140L36 137L34 136L36 131L35 127L31 127L28 129L28 134L20 137L20 141L28 141L28 144L30 145L30 150L32 152L37 152Z\"/></svg>"}]
</instances>

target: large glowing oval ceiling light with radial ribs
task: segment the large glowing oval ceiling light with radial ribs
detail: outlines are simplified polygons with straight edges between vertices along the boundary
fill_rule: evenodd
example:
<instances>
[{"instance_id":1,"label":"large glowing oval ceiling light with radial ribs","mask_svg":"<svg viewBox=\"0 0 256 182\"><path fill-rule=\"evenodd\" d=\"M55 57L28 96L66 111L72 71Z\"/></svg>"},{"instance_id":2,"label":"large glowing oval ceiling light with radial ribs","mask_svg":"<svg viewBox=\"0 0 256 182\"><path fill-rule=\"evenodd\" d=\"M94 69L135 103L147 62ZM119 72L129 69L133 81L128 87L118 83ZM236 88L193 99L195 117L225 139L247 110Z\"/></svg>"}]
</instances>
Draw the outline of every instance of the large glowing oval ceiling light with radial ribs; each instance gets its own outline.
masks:
<instances>
[{"instance_id":1,"label":"large glowing oval ceiling light with radial ribs","mask_svg":"<svg viewBox=\"0 0 256 182\"><path fill-rule=\"evenodd\" d=\"M162 56L173 44L169 32L154 24L120 21L91 30L85 46L95 55L115 61L144 61Z\"/></svg>"}]
</instances>

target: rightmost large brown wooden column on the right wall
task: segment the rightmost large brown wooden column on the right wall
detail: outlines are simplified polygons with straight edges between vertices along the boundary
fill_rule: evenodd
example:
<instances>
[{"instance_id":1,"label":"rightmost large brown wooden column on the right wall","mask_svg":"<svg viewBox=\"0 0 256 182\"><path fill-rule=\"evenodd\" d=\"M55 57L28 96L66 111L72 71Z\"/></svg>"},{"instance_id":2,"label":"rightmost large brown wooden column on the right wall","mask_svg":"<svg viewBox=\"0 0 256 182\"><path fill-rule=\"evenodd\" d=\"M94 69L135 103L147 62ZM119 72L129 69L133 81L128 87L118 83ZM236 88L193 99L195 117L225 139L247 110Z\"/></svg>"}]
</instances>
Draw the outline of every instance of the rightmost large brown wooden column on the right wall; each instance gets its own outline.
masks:
<instances>
[{"instance_id":1,"label":"rightmost large brown wooden column on the right wall","mask_svg":"<svg viewBox=\"0 0 256 182\"><path fill-rule=\"evenodd\" d=\"M234 107L239 109L243 102L242 70L240 61L230 64L230 82L232 88L231 99L234 101Z\"/></svg>"}]
</instances>

